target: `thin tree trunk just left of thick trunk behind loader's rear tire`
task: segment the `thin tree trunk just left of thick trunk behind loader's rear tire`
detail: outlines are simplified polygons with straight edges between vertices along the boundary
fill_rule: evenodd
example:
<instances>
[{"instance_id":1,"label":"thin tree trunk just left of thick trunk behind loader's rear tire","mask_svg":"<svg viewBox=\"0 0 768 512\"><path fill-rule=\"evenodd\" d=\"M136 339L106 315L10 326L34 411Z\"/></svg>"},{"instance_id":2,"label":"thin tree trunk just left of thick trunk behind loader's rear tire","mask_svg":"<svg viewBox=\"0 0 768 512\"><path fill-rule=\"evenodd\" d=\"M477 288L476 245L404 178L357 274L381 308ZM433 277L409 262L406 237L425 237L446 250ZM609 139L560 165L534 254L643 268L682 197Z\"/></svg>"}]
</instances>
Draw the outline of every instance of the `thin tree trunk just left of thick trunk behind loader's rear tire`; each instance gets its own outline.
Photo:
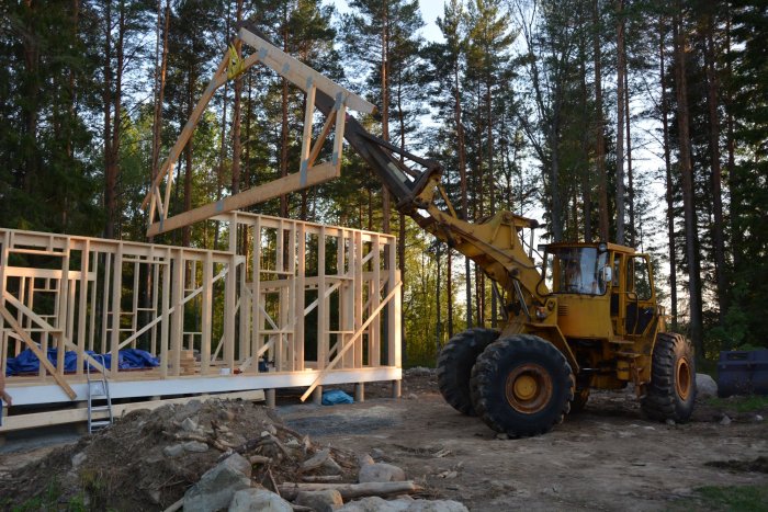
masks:
<instances>
[{"instance_id":1,"label":"thin tree trunk just left of thick trunk behind loader's rear tire","mask_svg":"<svg viewBox=\"0 0 768 512\"><path fill-rule=\"evenodd\" d=\"M671 156L669 148L669 112L667 102L666 68L664 64L664 20L659 21L658 55L660 60L659 78L662 86L662 127L664 132L664 166L666 169L667 201L667 238L669 240L669 300L671 305L671 326L677 328L677 251L675 250L675 202L673 198Z\"/></svg>"}]
</instances>

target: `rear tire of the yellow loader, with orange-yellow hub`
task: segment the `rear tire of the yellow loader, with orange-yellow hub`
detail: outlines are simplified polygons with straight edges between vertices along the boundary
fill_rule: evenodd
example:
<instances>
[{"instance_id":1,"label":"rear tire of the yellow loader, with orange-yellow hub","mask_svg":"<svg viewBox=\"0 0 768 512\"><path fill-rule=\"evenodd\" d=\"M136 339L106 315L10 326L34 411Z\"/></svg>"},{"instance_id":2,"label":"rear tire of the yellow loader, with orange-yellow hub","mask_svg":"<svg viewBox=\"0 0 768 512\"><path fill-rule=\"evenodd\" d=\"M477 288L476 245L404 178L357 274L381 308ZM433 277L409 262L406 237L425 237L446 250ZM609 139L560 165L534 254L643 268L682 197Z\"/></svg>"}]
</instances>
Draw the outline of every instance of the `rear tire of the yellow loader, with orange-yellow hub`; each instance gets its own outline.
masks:
<instances>
[{"instance_id":1,"label":"rear tire of the yellow loader, with orange-yellow hub","mask_svg":"<svg viewBox=\"0 0 768 512\"><path fill-rule=\"evenodd\" d=\"M690 341L659 332L653 350L651 384L641 401L652 420L688 421L696 401L696 361Z\"/></svg>"}]
</instances>

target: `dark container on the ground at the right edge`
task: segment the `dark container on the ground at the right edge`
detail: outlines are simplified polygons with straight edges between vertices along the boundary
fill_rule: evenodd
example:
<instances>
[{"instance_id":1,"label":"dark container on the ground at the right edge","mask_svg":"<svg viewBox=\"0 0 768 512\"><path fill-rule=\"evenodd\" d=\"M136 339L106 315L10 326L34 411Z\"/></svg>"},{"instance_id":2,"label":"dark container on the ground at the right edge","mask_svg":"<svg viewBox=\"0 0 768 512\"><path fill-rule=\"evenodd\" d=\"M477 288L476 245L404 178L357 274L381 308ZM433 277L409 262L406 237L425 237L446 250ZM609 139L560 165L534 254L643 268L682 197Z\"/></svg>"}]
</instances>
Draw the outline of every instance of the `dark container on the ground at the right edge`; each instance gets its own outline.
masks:
<instances>
[{"instance_id":1,"label":"dark container on the ground at the right edge","mask_svg":"<svg viewBox=\"0 0 768 512\"><path fill-rule=\"evenodd\" d=\"M768 350L723 351L718 362L718 396L768 395Z\"/></svg>"}]
</instances>

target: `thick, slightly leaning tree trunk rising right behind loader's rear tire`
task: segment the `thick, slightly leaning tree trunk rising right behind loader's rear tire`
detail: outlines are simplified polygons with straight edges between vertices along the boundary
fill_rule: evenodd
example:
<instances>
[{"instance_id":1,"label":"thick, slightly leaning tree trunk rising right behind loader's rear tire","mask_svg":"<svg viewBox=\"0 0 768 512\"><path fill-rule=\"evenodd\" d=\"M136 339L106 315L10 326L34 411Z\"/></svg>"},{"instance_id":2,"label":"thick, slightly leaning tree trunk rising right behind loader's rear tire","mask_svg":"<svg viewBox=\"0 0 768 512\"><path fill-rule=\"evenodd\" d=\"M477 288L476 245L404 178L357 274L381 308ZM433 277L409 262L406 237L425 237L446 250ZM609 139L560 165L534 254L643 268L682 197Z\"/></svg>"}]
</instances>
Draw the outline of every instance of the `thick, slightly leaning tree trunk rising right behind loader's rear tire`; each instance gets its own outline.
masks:
<instances>
[{"instance_id":1,"label":"thick, slightly leaning tree trunk rising right behind loader's rear tire","mask_svg":"<svg viewBox=\"0 0 768 512\"><path fill-rule=\"evenodd\" d=\"M699 357L704 356L699 287L699 260L696 209L693 205L693 169L690 156L688 92L686 90L686 35L682 26L682 5L678 1L675 14L675 88L677 96L677 123L680 139L680 175L682 182L682 208L686 220L686 255L688 258L688 293L690 309L690 337Z\"/></svg>"}]
</instances>

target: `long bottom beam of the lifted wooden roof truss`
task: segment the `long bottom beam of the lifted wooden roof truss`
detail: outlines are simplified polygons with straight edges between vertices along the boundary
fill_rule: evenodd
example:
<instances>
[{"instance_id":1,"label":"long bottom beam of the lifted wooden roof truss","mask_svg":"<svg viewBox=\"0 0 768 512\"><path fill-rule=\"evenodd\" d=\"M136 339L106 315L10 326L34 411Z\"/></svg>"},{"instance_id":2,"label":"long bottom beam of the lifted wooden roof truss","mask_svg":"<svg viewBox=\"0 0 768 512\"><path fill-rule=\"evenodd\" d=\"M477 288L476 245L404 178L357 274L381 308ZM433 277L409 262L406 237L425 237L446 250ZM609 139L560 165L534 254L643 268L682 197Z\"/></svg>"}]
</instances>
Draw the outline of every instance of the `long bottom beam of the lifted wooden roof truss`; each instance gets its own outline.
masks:
<instances>
[{"instance_id":1,"label":"long bottom beam of the lifted wooden roof truss","mask_svg":"<svg viewBox=\"0 0 768 512\"><path fill-rule=\"evenodd\" d=\"M216 203L206 204L197 208L190 209L183 214L176 215L163 221L155 223L147 229L147 236L154 237L162 232L189 226L201 220L208 219L218 214L245 208L256 203L262 203L282 194L301 190L307 186L318 185L338 177L338 170L330 163L320 163L307 172L306 183L301 184L300 173L289 174L284 178L264 183L242 191L239 194L224 197Z\"/></svg>"}]
</instances>

